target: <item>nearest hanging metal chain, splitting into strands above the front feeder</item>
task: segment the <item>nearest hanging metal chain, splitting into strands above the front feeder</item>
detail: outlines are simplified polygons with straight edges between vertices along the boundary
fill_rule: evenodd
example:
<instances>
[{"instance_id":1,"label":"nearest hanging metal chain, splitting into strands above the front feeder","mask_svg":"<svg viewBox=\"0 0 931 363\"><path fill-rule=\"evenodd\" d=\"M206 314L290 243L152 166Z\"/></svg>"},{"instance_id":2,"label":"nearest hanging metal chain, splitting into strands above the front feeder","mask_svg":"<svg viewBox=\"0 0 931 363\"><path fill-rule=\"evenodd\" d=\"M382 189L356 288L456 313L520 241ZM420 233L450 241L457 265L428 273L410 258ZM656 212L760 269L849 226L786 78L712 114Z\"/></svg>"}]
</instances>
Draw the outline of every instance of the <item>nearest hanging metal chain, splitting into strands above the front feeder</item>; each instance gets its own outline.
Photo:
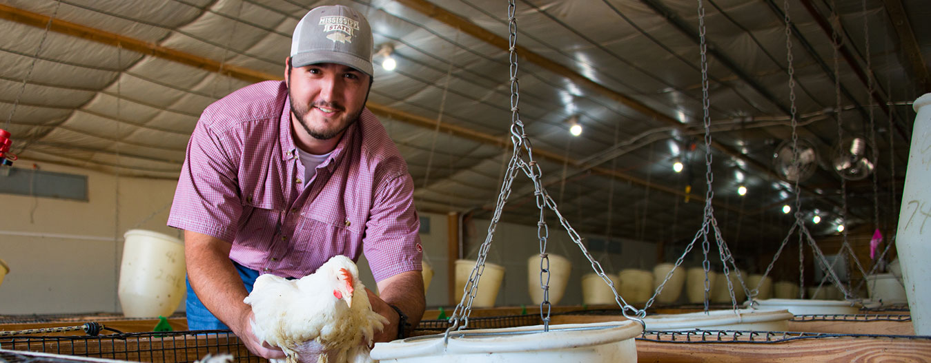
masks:
<instances>
[{"instance_id":1,"label":"nearest hanging metal chain, splitting into strands above the front feeder","mask_svg":"<svg viewBox=\"0 0 931 363\"><path fill-rule=\"evenodd\" d=\"M576 232L572 226L569 225L569 222L565 217L560 214L559 209L557 208L556 201L549 196L546 192L546 188L543 185L541 180L542 170L540 169L539 164L533 160L533 145L530 142L527 134L524 131L523 122L520 121L519 114L519 82L518 82L518 55L517 55L517 18L515 17L515 0L509 0L507 4L507 18L508 18L508 60L510 63L509 73L510 73L510 82L511 82L511 144L513 146L511 159L508 162L506 175L504 181L501 185L501 192L498 194L498 200L495 203L494 214L492 215L492 222L488 227L488 234L485 237L485 241L482 242L479 247L479 257L476 261L476 266L472 268L472 272L469 275L469 279L466 281L466 286L463 288L463 297L460 300L459 304L456 305L455 309L452 312L452 317L450 318L451 326L446 330L444 342L449 342L450 332L453 330L463 330L468 326L468 317L472 310L472 303L475 300L476 293L478 292L479 279L481 279L481 274L485 269L485 259L488 256L488 251L491 249L492 236L494 235L494 229L497 227L498 222L501 220L501 214L504 211L504 206L507 202L507 198L510 196L511 187L514 182L514 178L518 175L519 172L523 172L524 175L527 175L533 181L533 195L536 199L536 206L540 210L540 220L537 223L537 238L540 240L540 285L544 289L544 299L540 304L540 318L544 323L544 331L549 330L549 319L551 312L551 305L548 301L548 285L549 285L549 257L546 254L546 240L549 237L549 228L546 226L545 220L545 209L548 208L560 219L560 225L566 229L569 234L570 239L582 250L582 253L585 254L588 262L591 263L592 269L599 274L601 279L603 279L609 287L611 287L612 292L614 292L614 300L618 305L621 306L622 314L626 318L637 320L643 324L642 317L646 315L644 310L637 309L636 307L627 304L627 302L617 293L614 289L614 283L611 279L605 275L604 270L601 268L600 263L592 257L591 253L588 253L587 248L582 243L582 238ZM522 152L526 150L526 160L521 157ZM546 311L546 313L544 313Z\"/></svg>"}]
</instances>

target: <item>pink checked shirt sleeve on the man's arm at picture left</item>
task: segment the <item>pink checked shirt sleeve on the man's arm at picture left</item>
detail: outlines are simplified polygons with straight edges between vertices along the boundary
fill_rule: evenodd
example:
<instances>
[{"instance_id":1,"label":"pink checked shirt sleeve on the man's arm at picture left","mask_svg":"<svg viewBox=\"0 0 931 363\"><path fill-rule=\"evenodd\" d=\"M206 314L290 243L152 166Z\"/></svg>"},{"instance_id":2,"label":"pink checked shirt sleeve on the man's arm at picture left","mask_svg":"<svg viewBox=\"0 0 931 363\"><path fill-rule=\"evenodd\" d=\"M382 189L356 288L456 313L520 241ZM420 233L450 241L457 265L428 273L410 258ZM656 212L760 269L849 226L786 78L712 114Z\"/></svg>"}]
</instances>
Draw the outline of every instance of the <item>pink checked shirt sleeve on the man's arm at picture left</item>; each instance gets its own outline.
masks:
<instances>
[{"instance_id":1,"label":"pink checked shirt sleeve on the man's arm at picture left","mask_svg":"<svg viewBox=\"0 0 931 363\"><path fill-rule=\"evenodd\" d=\"M205 117L188 141L168 225L232 242L242 214L236 187L237 156L210 130Z\"/></svg>"}]
</instances>

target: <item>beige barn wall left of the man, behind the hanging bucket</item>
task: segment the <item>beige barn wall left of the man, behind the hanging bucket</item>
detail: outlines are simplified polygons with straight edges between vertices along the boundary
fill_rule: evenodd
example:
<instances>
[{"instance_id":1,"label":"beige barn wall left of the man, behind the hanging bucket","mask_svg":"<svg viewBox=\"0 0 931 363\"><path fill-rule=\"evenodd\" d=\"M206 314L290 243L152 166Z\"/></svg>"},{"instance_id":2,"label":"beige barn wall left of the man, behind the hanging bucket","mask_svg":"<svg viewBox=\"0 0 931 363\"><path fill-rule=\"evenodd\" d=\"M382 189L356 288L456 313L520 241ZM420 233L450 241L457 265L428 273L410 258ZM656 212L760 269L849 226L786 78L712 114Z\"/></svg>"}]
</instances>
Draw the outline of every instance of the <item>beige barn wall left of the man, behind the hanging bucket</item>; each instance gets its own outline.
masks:
<instances>
[{"instance_id":1,"label":"beige barn wall left of the man, behind the hanging bucket","mask_svg":"<svg viewBox=\"0 0 931 363\"><path fill-rule=\"evenodd\" d=\"M165 226L176 182L37 164L43 171L87 175L88 201L0 194L0 258L10 266L0 285L0 314L120 311L122 235L135 227L178 236Z\"/></svg>"}]
</instances>

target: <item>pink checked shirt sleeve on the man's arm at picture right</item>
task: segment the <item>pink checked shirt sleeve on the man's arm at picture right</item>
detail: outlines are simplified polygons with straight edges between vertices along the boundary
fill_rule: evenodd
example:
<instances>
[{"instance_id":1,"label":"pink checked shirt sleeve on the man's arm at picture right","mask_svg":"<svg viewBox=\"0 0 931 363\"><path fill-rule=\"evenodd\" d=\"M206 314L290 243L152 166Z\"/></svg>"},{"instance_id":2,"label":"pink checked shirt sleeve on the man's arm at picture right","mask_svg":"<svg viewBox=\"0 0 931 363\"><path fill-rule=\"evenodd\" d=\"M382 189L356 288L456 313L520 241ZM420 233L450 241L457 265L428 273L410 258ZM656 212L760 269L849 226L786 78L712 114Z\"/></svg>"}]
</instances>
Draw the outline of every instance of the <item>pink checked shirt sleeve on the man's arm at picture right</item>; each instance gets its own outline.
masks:
<instances>
[{"instance_id":1,"label":"pink checked shirt sleeve on the man's arm at picture right","mask_svg":"<svg viewBox=\"0 0 931 363\"><path fill-rule=\"evenodd\" d=\"M366 223L362 247L375 281L421 270L420 219L413 203L413 180L405 173L381 183Z\"/></svg>"}]
</instances>

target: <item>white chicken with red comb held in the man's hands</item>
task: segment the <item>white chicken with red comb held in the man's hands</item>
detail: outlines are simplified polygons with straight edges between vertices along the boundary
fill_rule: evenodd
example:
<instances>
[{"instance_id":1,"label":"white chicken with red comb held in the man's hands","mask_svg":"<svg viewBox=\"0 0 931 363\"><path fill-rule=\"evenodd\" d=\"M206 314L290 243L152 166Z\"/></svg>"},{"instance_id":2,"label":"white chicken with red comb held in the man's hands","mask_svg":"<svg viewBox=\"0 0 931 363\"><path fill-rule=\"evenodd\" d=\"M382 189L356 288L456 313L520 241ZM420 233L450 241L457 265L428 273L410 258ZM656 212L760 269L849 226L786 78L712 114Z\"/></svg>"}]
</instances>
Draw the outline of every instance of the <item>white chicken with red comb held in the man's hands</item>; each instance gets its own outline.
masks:
<instances>
[{"instance_id":1,"label":"white chicken with red comb held in the man's hands","mask_svg":"<svg viewBox=\"0 0 931 363\"><path fill-rule=\"evenodd\" d=\"M388 322L371 311L358 267L343 255L302 279L262 275L243 302L252 306L256 338L280 347L287 363L298 363L302 347L311 341L327 352L317 362L373 362L371 339Z\"/></svg>"}]
</instances>

